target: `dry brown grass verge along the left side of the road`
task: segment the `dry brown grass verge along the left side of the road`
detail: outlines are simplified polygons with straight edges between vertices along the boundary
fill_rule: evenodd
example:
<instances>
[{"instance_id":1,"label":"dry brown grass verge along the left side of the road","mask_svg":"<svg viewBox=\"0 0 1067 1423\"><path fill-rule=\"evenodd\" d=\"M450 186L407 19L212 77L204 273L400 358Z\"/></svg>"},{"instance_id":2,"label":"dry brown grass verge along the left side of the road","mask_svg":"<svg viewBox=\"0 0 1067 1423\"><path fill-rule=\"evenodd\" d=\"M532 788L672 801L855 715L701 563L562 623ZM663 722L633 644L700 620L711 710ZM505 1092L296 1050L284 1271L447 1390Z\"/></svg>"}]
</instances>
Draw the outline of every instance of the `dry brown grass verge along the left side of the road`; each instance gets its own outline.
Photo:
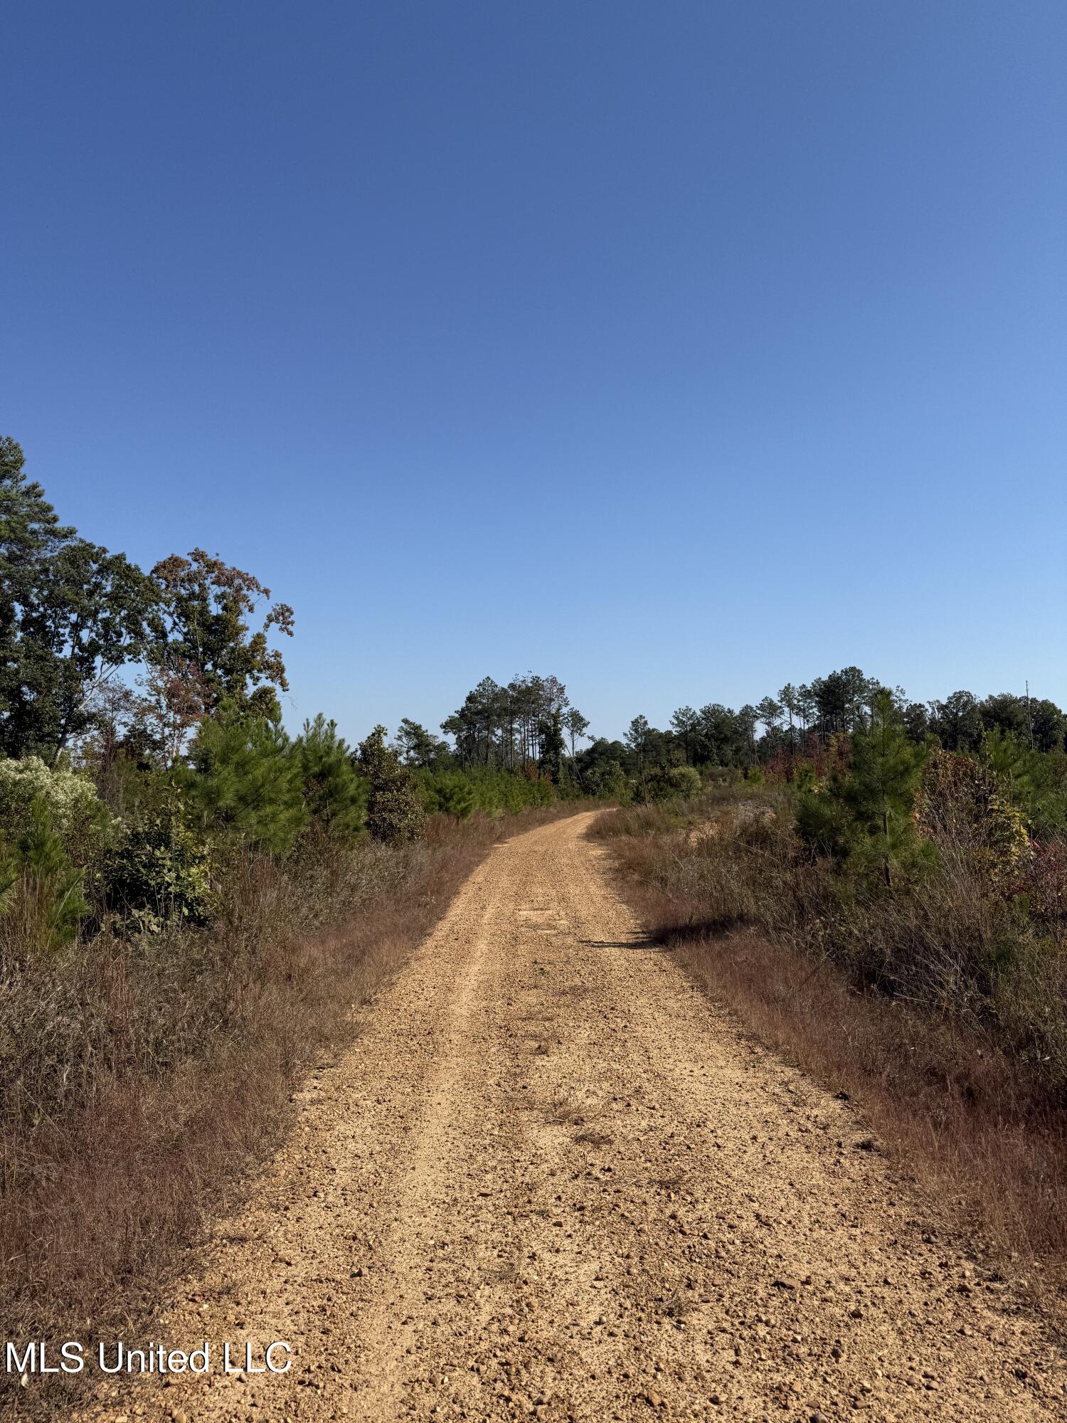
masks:
<instances>
[{"instance_id":1,"label":"dry brown grass verge along the left side of the road","mask_svg":"<svg viewBox=\"0 0 1067 1423\"><path fill-rule=\"evenodd\" d=\"M249 858L211 931L97 939L6 972L4 1338L148 1321L181 1249L280 1141L302 1069L351 1040L353 1007L492 844L561 813L435 817L425 842L289 868Z\"/></svg>"}]
</instances>

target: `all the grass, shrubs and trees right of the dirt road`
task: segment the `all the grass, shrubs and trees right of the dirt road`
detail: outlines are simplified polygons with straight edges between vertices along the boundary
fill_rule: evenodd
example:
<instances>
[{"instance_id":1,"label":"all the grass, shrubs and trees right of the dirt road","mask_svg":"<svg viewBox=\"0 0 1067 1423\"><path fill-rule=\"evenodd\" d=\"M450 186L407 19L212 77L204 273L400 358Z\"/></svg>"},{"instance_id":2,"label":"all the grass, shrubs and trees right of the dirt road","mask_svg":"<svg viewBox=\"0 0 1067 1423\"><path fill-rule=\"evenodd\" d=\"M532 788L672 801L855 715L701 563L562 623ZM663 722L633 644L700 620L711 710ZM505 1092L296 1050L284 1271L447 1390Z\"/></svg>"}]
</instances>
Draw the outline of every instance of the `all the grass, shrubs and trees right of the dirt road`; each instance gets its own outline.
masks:
<instances>
[{"instance_id":1,"label":"all the grass, shrubs and trees right of the dirt road","mask_svg":"<svg viewBox=\"0 0 1067 1423\"><path fill-rule=\"evenodd\" d=\"M1063 1258L1067 719L1027 696L916 707L856 669L812 686L807 726L777 714L788 689L758 737L737 717L726 764L711 717L679 713L654 760L643 737L646 794L632 766L636 803L596 832L751 1029L990 1239ZM700 788L657 793L673 763Z\"/></svg>"}]
</instances>

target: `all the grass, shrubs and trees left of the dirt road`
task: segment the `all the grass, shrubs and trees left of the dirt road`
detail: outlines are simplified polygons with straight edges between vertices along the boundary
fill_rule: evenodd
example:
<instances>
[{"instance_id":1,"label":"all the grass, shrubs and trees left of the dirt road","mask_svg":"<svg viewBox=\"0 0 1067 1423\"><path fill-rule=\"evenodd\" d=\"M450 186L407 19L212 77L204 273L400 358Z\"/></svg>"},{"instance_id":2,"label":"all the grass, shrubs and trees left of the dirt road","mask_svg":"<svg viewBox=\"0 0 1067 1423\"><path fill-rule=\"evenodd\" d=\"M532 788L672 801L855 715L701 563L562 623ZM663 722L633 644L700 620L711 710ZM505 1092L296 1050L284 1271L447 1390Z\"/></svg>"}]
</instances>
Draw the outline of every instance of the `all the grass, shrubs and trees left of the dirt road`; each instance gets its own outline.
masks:
<instances>
[{"instance_id":1,"label":"all the grass, shrubs and trees left of the dirt road","mask_svg":"<svg viewBox=\"0 0 1067 1423\"><path fill-rule=\"evenodd\" d=\"M293 633L219 556L144 572L63 527L0 440L6 1338L151 1309L299 1072L489 845L580 793L555 677L516 680L491 757L414 721L290 734Z\"/></svg>"}]
</instances>

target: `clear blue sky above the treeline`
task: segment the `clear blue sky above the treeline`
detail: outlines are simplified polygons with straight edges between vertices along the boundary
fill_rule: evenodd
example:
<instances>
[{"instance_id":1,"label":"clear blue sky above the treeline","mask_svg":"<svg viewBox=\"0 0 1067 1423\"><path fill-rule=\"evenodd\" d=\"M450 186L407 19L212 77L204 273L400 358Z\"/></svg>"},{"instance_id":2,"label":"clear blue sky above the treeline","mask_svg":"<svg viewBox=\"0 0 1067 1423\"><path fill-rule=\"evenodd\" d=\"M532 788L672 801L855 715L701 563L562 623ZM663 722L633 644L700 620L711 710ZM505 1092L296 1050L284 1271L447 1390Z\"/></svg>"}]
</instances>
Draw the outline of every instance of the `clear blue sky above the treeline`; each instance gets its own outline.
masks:
<instances>
[{"instance_id":1,"label":"clear blue sky above the treeline","mask_svg":"<svg viewBox=\"0 0 1067 1423\"><path fill-rule=\"evenodd\" d=\"M9 3L0 430L286 717L1067 703L1063 0Z\"/></svg>"}]
</instances>

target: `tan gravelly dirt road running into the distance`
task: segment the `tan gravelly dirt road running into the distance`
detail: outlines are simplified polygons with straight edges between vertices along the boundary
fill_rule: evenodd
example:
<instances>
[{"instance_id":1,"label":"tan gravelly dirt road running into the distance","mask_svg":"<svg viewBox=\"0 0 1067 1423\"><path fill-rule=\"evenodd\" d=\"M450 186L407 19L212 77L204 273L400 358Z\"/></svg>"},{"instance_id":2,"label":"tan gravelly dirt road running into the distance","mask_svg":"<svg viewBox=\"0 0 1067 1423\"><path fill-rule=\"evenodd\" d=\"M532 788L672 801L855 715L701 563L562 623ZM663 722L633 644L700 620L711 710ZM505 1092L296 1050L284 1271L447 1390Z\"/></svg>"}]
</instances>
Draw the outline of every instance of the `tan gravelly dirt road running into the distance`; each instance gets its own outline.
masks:
<instances>
[{"instance_id":1,"label":"tan gravelly dirt road running into the distance","mask_svg":"<svg viewBox=\"0 0 1067 1423\"><path fill-rule=\"evenodd\" d=\"M1063 1359L851 1109L647 945L589 815L495 848L166 1319L196 1420L1063 1419ZM115 1409L112 1409L112 1416Z\"/></svg>"}]
</instances>

